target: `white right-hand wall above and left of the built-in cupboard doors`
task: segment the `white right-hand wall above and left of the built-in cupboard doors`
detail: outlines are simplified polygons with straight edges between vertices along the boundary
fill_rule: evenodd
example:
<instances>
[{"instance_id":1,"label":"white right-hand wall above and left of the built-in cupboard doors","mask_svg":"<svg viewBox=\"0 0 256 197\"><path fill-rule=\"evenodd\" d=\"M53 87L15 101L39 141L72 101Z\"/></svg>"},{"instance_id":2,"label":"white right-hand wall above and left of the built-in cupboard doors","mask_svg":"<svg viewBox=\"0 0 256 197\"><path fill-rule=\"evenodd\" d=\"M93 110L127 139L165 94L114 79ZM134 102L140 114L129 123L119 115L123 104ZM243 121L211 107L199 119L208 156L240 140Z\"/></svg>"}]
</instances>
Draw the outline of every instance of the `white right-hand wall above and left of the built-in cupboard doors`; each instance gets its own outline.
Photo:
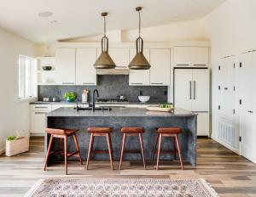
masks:
<instances>
[{"instance_id":1,"label":"white right-hand wall above and left of the built-in cupboard doors","mask_svg":"<svg viewBox=\"0 0 256 197\"><path fill-rule=\"evenodd\" d=\"M227 0L204 18L207 38L212 43L212 106L218 106L216 71L221 57L256 49L256 1ZM212 108L212 135L217 138L217 109Z\"/></svg>"}]
</instances>

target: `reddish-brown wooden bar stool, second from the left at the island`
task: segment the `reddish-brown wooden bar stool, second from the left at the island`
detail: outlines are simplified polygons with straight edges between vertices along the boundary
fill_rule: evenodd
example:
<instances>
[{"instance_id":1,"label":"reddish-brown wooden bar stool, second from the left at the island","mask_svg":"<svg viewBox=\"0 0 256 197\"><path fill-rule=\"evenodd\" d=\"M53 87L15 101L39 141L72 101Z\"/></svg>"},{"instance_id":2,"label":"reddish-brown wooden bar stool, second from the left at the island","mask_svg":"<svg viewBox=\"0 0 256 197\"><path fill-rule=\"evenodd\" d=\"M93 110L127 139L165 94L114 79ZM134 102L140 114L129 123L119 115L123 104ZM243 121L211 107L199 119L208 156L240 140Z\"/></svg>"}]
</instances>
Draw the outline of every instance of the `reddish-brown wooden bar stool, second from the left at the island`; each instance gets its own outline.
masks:
<instances>
[{"instance_id":1,"label":"reddish-brown wooden bar stool, second from the left at the island","mask_svg":"<svg viewBox=\"0 0 256 197\"><path fill-rule=\"evenodd\" d=\"M112 129L109 127L89 127L87 128L87 132L90 133L90 144L88 149L88 156L87 156L87 163L86 163L86 170L88 170L89 161L91 159L91 155L93 153L108 153L109 154L109 160L110 160L110 166L113 170L113 149L112 149L112 143L110 138L110 133L112 132ZM107 142L108 142L108 151L103 150L93 150L93 143L94 138L96 136L106 136Z\"/></svg>"}]
</instances>

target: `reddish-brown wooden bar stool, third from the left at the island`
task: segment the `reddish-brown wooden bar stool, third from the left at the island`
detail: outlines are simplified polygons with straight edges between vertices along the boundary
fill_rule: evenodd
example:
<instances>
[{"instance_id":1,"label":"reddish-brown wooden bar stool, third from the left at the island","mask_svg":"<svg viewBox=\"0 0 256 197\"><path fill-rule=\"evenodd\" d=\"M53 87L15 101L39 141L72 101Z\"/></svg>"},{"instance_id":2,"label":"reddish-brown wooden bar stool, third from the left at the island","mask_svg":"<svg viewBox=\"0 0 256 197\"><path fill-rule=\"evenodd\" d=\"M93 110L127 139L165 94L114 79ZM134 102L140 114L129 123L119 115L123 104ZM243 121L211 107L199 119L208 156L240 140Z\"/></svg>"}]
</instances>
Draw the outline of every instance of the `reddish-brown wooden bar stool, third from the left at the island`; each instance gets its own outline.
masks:
<instances>
[{"instance_id":1,"label":"reddish-brown wooden bar stool, third from the left at the island","mask_svg":"<svg viewBox=\"0 0 256 197\"><path fill-rule=\"evenodd\" d=\"M143 159L144 170L146 170L146 164L145 164L145 159L144 159L144 149L143 149L143 137L142 137L142 133L145 132L144 128L143 127L122 127L120 132L123 133L123 140L122 140L122 146L121 146L121 149L120 149L119 170L121 170L121 167L122 167L124 152L125 153L141 154L142 159ZM140 140L141 151L125 150L125 138L126 138L126 136L138 136L139 140Z\"/></svg>"}]
</instances>

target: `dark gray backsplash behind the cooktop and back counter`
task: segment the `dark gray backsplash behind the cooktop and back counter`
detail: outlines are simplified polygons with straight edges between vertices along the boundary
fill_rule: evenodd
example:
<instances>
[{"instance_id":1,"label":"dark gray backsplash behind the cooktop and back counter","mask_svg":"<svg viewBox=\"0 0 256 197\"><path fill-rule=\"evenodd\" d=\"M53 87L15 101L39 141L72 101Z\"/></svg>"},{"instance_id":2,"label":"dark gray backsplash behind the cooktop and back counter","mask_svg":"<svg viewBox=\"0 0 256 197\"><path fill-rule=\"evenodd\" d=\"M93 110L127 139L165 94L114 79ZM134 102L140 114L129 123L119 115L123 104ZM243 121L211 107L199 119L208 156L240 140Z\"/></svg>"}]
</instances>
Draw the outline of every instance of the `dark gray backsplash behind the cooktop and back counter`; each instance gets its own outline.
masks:
<instances>
[{"instance_id":1,"label":"dark gray backsplash behind the cooktop and back counter","mask_svg":"<svg viewBox=\"0 0 256 197\"><path fill-rule=\"evenodd\" d=\"M82 99L83 90L98 89L100 98L117 98L124 94L130 102L138 102L140 93L150 96L149 102L166 102L167 87L129 86L129 76L98 76L97 86L38 86L38 98L44 97L62 98L65 92L74 92L79 100Z\"/></svg>"}]
</instances>

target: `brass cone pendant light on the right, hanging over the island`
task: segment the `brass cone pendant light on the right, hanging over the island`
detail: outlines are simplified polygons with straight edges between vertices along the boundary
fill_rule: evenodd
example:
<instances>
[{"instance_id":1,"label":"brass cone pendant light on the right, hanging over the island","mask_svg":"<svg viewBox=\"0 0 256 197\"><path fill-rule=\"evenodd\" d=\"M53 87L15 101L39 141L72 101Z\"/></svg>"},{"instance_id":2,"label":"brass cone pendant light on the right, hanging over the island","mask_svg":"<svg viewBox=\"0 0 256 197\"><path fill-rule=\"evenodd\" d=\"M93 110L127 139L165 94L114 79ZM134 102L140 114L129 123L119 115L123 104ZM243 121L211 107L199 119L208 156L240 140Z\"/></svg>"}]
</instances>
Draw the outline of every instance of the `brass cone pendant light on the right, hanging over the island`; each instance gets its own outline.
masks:
<instances>
[{"instance_id":1,"label":"brass cone pendant light on the right, hanging over the island","mask_svg":"<svg viewBox=\"0 0 256 197\"><path fill-rule=\"evenodd\" d=\"M141 37L141 14L142 7L137 7L136 11L139 14L139 37L136 39L136 55L128 65L129 69L132 70L148 70L150 64L143 55L143 38Z\"/></svg>"}]
</instances>

